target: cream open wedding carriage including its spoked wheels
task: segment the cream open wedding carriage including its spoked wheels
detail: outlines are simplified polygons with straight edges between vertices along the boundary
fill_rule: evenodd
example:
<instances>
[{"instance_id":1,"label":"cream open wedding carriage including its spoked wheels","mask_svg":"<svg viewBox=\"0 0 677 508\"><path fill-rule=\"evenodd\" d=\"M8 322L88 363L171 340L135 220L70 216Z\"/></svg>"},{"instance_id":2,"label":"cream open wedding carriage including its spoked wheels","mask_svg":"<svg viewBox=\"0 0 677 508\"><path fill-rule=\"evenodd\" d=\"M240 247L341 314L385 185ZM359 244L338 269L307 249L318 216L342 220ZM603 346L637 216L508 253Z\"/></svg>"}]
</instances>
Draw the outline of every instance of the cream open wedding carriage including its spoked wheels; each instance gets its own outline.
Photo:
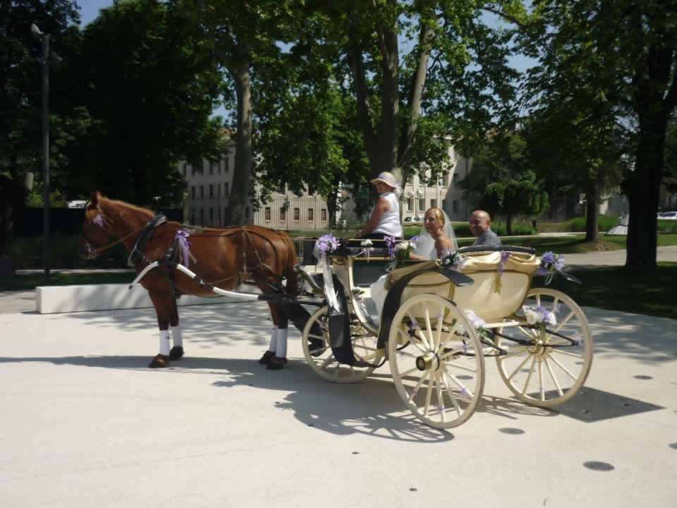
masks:
<instances>
[{"instance_id":1,"label":"cream open wedding carriage including its spoked wheels","mask_svg":"<svg viewBox=\"0 0 677 508\"><path fill-rule=\"evenodd\" d=\"M495 357L508 389L528 404L556 406L583 386L592 363L587 320L561 291L532 289L540 266L532 251L504 247L468 253L463 274L470 284L458 283L462 278L450 276L453 270L439 260L395 270L377 322L365 305L368 283L387 262L383 255L367 259L354 253L332 259L331 271L346 296L350 326L344 333L350 334L357 362L334 361L330 342L336 337L323 324L327 350L322 355L312 356L303 341L307 360L322 377L358 382L387 361L406 406L437 428L472 416L482 397L487 356ZM530 322L530 309L546 316L549 311L555 321ZM321 322L326 315L327 308L317 310L310 321Z\"/></svg>"}]
</instances>

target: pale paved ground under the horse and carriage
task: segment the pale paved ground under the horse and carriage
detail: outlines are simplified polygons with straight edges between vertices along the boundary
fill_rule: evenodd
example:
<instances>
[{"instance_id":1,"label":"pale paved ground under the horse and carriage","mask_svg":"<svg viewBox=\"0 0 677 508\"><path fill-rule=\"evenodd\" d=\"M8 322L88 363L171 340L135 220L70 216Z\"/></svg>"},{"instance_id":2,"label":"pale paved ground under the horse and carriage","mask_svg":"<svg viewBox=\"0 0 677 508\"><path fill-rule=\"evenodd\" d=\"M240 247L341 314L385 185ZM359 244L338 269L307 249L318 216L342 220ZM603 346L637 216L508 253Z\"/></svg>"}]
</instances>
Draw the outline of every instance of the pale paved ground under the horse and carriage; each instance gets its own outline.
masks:
<instances>
[{"instance_id":1,"label":"pale paved ground under the horse and carriage","mask_svg":"<svg viewBox=\"0 0 677 508\"><path fill-rule=\"evenodd\" d=\"M513 399L487 360L459 428L419 423L387 365L317 377L290 337L270 371L264 306L183 311L187 357L150 370L150 309L0 316L6 507L673 507L676 322L585 308L586 387L556 411Z\"/></svg>"}]
</instances>

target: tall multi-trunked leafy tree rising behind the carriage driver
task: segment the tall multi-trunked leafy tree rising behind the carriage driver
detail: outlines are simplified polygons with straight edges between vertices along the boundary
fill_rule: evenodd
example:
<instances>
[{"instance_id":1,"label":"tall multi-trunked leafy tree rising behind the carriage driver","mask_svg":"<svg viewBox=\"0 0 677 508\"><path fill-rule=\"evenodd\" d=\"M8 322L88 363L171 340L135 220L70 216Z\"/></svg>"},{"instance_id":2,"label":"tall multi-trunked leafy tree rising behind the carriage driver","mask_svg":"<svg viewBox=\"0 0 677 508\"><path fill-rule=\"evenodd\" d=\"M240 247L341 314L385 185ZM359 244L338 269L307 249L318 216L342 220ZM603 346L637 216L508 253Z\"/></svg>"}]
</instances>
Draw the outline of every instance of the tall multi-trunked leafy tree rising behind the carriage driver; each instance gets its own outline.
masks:
<instances>
[{"instance_id":1,"label":"tall multi-trunked leafy tree rising behind the carriage driver","mask_svg":"<svg viewBox=\"0 0 677 508\"><path fill-rule=\"evenodd\" d=\"M350 66L372 176L391 171L403 180L425 160L437 178L446 157L441 140L463 140L467 152L473 139L510 116L516 78L506 63L511 32L482 23L485 4L374 0L317 6L326 16L327 40L338 42ZM519 2L505 4L507 11L522 10ZM401 53L403 40L412 48L408 54Z\"/></svg>"}]
</instances>

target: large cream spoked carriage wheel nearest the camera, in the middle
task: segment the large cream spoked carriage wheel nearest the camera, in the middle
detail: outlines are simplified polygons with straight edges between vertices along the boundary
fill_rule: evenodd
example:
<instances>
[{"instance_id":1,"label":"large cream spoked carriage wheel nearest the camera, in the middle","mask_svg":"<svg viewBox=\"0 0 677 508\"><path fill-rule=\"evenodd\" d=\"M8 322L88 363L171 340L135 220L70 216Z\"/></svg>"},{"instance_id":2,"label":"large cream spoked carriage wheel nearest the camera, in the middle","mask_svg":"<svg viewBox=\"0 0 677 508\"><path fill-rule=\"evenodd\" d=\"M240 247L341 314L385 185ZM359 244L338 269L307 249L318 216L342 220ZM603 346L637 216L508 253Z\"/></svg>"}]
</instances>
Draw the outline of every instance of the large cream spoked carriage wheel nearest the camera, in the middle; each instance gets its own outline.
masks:
<instances>
[{"instance_id":1,"label":"large cream spoked carriage wheel nearest the camera, in the middle","mask_svg":"<svg viewBox=\"0 0 677 508\"><path fill-rule=\"evenodd\" d=\"M421 421L451 428L472 416L484 389L484 354L455 303L436 294L405 301L390 329L388 354L397 391Z\"/></svg>"}]
</instances>

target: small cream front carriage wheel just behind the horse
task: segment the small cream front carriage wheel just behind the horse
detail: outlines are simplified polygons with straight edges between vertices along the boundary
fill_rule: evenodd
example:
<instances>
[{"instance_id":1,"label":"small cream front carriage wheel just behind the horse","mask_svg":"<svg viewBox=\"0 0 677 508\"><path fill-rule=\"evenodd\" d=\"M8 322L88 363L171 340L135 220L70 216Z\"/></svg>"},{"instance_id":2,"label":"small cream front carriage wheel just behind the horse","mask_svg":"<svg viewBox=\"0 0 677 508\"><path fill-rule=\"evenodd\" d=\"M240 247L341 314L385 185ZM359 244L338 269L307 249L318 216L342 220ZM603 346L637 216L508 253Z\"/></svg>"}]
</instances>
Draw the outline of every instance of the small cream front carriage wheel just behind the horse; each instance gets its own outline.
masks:
<instances>
[{"instance_id":1,"label":"small cream front carriage wheel just behind the horse","mask_svg":"<svg viewBox=\"0 0 677 508\"><path fill-rule=\"evenodd\" d=\"M317 374L332 382L359 382L374 372L373 367L353 367L345 363L338 363L329 346L329 320L327 306L319 308L310 316L303 329L303 354L308 364ZM322 336L310 333L313 323L317 322L322 328ZM377 363L382 353L377 351L377 337L367 332L356 320L350 320L350 336L353 341L353 353L358 360ZM319 339L324 342L324 351L319 356L312 356L309 349L309 340Z\"/></svg>"}]
</instances>

